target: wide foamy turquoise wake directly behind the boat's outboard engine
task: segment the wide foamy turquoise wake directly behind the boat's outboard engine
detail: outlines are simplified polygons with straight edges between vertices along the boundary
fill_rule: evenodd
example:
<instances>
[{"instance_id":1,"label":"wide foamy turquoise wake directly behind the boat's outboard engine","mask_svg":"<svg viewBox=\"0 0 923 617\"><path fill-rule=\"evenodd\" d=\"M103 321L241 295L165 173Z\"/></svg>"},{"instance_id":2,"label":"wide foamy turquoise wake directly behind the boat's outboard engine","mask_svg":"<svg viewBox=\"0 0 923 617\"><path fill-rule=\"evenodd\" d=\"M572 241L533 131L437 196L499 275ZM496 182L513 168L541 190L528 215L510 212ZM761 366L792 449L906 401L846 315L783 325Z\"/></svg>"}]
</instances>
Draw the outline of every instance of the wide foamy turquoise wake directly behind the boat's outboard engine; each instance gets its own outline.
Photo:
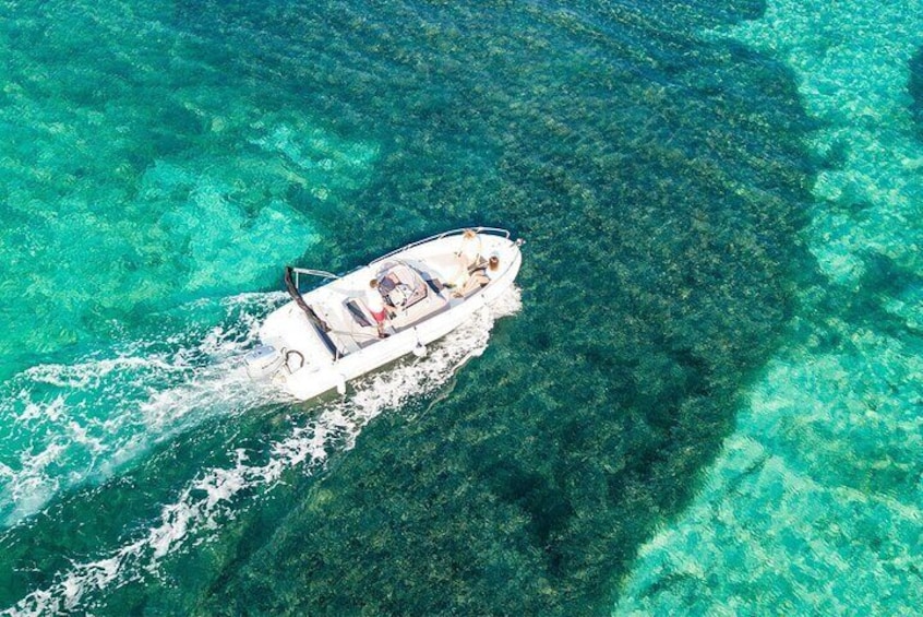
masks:
<instances>
[{"instance_id":1,"label":"wide foamy turquoise wake directly behind the boat's outboard engine","mask_svg":"<svg viewBox=\"0 0 923 617\"><path fill-rule=\"evenodd\" d=\"M221 302L226 327L123 345L112 357L38 365L0 384L0 521L12 525L58 491L109 477L153 443L265 396L239 366L280 294ZM188 307L196 310L195 305Z\"/></svg>"}]
</instances>

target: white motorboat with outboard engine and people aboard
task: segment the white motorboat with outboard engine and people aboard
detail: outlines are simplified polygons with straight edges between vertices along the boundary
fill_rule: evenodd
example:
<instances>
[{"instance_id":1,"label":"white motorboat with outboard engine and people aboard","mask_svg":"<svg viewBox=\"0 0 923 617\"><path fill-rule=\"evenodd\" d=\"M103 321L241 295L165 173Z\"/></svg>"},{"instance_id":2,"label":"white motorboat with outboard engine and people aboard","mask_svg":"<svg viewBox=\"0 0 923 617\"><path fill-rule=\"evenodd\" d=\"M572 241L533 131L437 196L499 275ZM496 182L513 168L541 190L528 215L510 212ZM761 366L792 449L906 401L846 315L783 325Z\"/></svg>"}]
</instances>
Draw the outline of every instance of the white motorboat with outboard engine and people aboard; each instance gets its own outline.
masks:
<instances>
[{"instance_id":1,"label":"white motorboat with outboard engine and people aboard","mask_svg":"<svg viewBox=\"0 0 923 617\"><path fill-rule=\"evenodd\" d=\"M493 227L446 232L343 276L287 268L292 299L261 327L262 344L245 358L248 372L303 401L334 389L343 393L347 381L401 356L425 355L429 343L513 285L523 241L510 236ZM327 282L302 293L307 277ZM382 307L387 317L379 322L381 310L379 319L374 311Z\"/></svg>"}]
</instances>

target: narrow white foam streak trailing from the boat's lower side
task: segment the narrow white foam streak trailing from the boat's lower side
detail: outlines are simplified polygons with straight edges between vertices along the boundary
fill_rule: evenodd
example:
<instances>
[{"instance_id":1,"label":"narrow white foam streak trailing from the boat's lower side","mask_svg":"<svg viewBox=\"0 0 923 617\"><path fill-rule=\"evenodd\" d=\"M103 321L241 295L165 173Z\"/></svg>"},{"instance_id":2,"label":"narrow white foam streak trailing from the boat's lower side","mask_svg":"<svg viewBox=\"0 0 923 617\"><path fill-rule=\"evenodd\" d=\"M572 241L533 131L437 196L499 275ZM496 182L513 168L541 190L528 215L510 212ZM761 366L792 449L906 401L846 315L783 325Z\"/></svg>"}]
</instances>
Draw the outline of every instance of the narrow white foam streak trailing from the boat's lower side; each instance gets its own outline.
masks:
<instances>
[{"instance_id":1,"label":"narrow white foam streak trailing from the boat's lower side","mask_svg":"<svg viewBox=\"0 0 923 617\"><path fill-rule=\"evenodd\" d=\"M29 593L2 615L37 616L74 610L87 593L156 573L164 557L190 541L206 542L209 531L232 519L242 509L240 506L233 509L241 490L261 487L265 494L286 471L295 467L302 467L305 474L317 472L332 452L352 448L362 428L383 411L444 385L459 366L483 353L494 321L515 313L520 306L519 292L514 288L431 345L427 357L360 380L352 395L323 406L319 416L273 443L267 462L252 464L244 450L236 450L233 466L203 471L176 501L164 506L159 521L146 535L127 541L103 559L74 563L51 588Z\"/></svg>"}]
</instances>

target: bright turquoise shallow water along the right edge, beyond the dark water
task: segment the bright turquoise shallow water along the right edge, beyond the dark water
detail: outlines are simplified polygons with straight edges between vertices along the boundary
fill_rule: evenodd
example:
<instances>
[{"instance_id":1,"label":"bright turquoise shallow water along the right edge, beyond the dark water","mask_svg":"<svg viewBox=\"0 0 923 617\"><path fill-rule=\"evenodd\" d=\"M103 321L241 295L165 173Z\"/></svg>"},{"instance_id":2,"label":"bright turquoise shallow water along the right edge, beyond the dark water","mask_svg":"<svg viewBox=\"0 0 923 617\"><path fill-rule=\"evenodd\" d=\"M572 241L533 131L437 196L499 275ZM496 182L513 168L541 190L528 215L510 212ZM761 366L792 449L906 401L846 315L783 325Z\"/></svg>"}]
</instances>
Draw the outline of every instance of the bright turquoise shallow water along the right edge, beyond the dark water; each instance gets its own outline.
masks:
<instances>
[{"instance_id":1,"label":"bright turquoise shallow water along the right edge, beyond the dark water","mask_svg":"<svg viewBox=\"0 0 923 617\"><path fill-rule=\"evenodd\" d=\"M921 9L771 2L733 31L792 67L817 121L808 242L825 281L801 290L795 335L615 614L919 609Z\"/></svg>"}]
</instances>

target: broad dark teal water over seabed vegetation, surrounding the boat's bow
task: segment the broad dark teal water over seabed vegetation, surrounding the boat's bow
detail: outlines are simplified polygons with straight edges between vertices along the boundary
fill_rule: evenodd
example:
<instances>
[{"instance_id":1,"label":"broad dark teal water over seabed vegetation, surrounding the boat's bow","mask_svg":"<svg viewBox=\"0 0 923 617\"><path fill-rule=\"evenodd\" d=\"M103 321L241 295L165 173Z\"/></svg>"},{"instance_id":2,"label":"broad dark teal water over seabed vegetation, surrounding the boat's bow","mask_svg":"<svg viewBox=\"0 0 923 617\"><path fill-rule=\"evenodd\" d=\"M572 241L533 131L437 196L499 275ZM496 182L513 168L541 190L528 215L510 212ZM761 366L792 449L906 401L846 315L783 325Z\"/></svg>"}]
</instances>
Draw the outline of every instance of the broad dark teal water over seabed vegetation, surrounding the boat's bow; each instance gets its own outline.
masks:
<instances>
[{"instance_id":1,"label":"broad dark teal water over seabed vegetation, surrounding the boat's bow","mask_svg":"<svg viewBox=\"0 0 923 617\"><path fill-rule=\"evenodd\" d=\"M444 228L510 227L527 240L523 308L440 395L375 418L322 473L239 493L245 507L208 542L89 590L86 605L608 614L639 543L693 495L812 276L812 127L792 75L698 34L762 11L177 2L166 25L216 92L310 109L345 141L381 144L348 199L274 186L316 224L303 261L323 254L311 264L343 271ZM142 158L184 152L204 130L170 109L159 127ZM266 443L312 413L209 418L57 497L4 536L0 606L143 535L239 449L269 460Z\"/></svg>"}]
</instances>

